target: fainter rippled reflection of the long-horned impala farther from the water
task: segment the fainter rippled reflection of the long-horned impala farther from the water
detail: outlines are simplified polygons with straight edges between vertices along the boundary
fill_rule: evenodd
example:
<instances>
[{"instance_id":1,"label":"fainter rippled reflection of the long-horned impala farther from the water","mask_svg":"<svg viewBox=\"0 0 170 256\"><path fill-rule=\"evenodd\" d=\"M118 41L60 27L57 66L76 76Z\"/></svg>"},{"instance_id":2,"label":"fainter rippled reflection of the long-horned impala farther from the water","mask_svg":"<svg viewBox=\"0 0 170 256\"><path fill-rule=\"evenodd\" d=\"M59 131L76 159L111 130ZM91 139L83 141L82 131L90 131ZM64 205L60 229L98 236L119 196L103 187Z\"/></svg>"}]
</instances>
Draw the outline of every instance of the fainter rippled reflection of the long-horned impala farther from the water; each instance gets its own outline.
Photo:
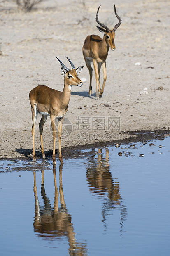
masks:
<instances>
[{"instance_id":1,"label":"fainter rippled reflection of the long-horned impala farther from the water","mask_svg":"<svg viewBox=\"0 0 170 256\"><path fill-rule=\"evenodd\" d=\"M108 212L114 209L120 209L120 232L123 232L123 222L127 218L127 209L123 204L123 199L119 192L119 182L113 181L112 174L109 170L109 149L106 148L105 156L102 153L102 149L98 149L97 161L95 155L90 156L86 178L94 195L97 193L100 197L104 197L102 204L102 222L105 226L105 231L107 229L106 216ZM106 194L107 197L105 196Z\"/></svg>"}]
</instances>

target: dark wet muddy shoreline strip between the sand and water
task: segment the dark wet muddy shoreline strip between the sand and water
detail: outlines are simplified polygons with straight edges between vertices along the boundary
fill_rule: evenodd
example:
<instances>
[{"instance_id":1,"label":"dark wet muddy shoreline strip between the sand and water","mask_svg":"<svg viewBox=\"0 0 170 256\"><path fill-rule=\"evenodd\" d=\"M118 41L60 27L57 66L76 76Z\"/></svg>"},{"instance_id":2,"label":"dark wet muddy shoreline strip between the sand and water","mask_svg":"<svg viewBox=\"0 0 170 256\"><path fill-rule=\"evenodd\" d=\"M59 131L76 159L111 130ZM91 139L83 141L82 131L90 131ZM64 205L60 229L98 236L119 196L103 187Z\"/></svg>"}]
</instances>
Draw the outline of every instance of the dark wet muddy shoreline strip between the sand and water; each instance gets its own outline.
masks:
<instances>
[{"instance_id":1,"label":"dark wet muddy shoreline strip between the sand and water","mask_svg":"<svg viewBox=\"0 0 170 256\"><path fill-rule=\"evenodd\" d=\"M123 132L125 134L125 132ZM155 131L130 131L126 133L126 136L129 136L126 139L118 139L114 141L107 141L107 142L95 142L93 144L85 144L85 145L77 145L72 147L64 147L62 148L62 155L63 160L71 159L71 158L83 158L88 155L91 155L94 151L94 149L102 149L107 147L121 147L121 145L129 145L132 144L135 145L137 142L149 142L152 140L164 140L165 137L170 135L170 130L155 130ZM86 151L86 149L88 149ZM18 158L13 157L2 157L0 160L32 160L32 155L30 154L31 149L18 149L18 153L21 154ZM43 159L44 164L46 160L52 161L52 150L45 151L46 159ZM42 159L41 151L36 151L36 158L37 160ZM57 165L59 164L58 161L58 150L56 150L56 161ZM36 162L33 162L34 166L36 166ZM39 165L39 164L38 164ZM39 166L40 167L40 166ZM20 168L18 168L20 169Z\"/></svg>"}]
</instances>

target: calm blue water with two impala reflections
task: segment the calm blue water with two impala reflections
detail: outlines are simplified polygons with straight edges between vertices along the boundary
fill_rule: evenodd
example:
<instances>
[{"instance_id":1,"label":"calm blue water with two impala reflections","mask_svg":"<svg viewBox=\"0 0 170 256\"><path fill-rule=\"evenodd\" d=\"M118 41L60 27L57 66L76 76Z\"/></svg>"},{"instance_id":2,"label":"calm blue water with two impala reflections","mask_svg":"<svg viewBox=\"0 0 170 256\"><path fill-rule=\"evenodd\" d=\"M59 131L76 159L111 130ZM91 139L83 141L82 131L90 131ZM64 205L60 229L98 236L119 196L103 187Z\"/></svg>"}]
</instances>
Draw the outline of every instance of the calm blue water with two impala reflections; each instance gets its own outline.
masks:
<instances>
[{"instance_id":1,"label":"calm blue water with two impala reflections","mask_svg":"<svg viewBox=\"0 0 170 256\"><path fill-rule=\"evenodd\" d=\"M170 137L87 151L0 161L0 255L170 255Z\"/></svg>"}]
</instances>

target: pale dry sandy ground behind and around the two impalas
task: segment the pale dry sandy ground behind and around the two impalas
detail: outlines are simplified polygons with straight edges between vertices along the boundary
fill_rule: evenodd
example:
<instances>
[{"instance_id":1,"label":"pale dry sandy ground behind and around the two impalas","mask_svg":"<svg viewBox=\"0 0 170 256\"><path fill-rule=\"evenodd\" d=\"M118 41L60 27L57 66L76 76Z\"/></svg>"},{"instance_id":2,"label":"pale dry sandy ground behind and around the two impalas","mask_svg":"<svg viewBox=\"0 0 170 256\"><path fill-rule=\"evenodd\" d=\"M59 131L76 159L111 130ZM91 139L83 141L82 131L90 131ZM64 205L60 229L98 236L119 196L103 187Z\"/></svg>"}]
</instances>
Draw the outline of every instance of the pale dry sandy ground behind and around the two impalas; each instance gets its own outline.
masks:
<instances>
[{"instance_id":1,"label":"pale dry sandy ground behind and around the two impalas","mask_svg":"<svg viewBox=\"0 0 170 256\"><path fill-rule=\"evenodd\" d=\"M85 5L83 5L83 2ZM170 129L170 1L114 1L122 19L116 30L116 50L109 50L103 97L88 97L89 73L82 55L87 35L103 36L99 20L109 28L117 24L113 1L49 0L29 13L1 4L0 9L0 157L31 156L29 92L42 84L63 90L57 56L69 67L68 56L84 85L72 88L65 115L63 158L73 149L135 140L138 135L169 133ZM12 8L9 8L12 7ZM102 79L102 72L101 72ZM38 122L36 153L41 157ZM145 136L145 135L144 135ZM147 137L147 136L146 136ZM144 139L144 137L143 137ZM51 156L50 119L44 125L44 149ZM58 143L56 143L56 149Z\"/></svg>"}]
</instances>

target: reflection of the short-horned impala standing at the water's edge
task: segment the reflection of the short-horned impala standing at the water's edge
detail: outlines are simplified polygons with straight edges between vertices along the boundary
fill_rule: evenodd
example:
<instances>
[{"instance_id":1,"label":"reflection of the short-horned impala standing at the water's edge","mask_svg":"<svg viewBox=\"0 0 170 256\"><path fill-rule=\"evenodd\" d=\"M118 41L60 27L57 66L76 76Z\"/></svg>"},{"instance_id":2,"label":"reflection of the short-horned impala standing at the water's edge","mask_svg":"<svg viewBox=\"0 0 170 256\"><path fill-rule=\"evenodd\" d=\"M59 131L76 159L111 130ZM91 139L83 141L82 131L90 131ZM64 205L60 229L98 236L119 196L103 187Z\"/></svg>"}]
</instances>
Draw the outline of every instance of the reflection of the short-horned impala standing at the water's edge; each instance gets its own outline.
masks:
<instances>
[{"instance_id":1,"label":"reflection of the short-horned impala standing at the water's edge","mask_svg":"<svg viewBox=\"0 0 170 256\"><path fill-rule=\"evenodd\" d=\"M52 207L49 198L45 192L44 170L42 170L41 196L44 206L40 206L37 196L36 172L34 174L34 196L35 196L35 218L34 231L39 237L54 240L65 236L68 237L69 255L87 255L86 244L76 242L71 214L68 212L63 193L62 185L62 164L59 167L59 192L56 182L56 168L53 168L54 175L54 207ZM60 197L60 207L58 207L58 197Z\"/></svg>"}]
</instances>

